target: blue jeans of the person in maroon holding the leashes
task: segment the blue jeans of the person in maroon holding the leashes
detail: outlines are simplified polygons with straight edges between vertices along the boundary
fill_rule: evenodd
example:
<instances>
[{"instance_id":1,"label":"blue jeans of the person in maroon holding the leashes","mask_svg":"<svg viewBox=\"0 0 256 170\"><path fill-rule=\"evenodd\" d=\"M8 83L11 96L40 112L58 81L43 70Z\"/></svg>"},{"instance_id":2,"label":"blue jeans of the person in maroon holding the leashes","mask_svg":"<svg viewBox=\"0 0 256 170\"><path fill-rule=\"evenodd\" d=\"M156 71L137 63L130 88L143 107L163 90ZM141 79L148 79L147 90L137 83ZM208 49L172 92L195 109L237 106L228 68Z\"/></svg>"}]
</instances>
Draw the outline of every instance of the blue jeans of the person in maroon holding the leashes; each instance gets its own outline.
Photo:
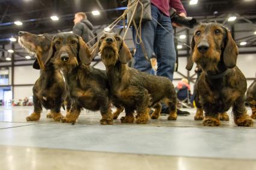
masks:
<instances>
[{"instance_id":1,"label":"blue jeans of the person in maroon holding the leashes","mask_svg":"<svg viewBox=\"0 0 256 170\"><path fill-rule=\"evenodd\" d=\"M173 33L170 17L164 15L155 5L151 4L151 16L154 17L164 28ZM142 23L142 40L145 44L148 58L151 58L155 52L157 56L157 75L173 79L173 71L176 60L176 52L174 47L173 35L169 34L154 20ZM136 44L136 29L133 27L133 40L136 46L134 55L134 68L150 73L151 63L146 60L142 47ZM138 40L139 42L139 40Z\"/></svg>"}]
</instances>

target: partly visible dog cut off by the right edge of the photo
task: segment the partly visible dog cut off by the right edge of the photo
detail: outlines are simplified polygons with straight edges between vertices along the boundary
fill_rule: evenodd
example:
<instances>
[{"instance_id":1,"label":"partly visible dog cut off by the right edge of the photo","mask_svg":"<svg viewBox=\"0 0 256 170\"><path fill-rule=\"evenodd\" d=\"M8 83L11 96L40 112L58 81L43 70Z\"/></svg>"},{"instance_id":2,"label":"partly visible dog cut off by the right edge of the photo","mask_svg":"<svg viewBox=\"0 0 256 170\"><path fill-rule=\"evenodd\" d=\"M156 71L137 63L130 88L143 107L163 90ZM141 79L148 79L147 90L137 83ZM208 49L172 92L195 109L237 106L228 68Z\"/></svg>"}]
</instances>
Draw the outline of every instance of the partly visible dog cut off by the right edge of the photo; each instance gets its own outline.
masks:
<instances>
[{"instance_id":1,"label":"partly visible dog cut off by the right edge of the photo","mask_svg":"<svg viewBox=\"0 0 256 170\"><path fill-rule=\"evenodd\" d=\"M252 109L251 118L256 119L256 80L252 82L246 93L246 101Z\"/></svg>"}]
</instances>

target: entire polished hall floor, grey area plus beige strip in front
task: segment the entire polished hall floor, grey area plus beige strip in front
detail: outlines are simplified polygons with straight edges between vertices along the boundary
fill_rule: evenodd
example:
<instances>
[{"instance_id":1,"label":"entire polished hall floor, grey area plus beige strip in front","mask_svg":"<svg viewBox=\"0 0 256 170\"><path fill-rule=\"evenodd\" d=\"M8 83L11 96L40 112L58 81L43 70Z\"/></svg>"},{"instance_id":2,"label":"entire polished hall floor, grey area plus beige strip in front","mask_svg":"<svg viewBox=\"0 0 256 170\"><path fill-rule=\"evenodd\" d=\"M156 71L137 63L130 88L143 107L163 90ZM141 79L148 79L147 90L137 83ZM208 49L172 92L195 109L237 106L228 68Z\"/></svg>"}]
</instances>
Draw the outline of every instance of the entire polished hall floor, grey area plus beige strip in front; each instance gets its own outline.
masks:
<instances>
[{"instance_id":1,"label":"entire polished hall floor, grey area plus beige strip in front","mask_svg":"<svg viewBox=\"0 0 256 170\"><path fill-rule=\"evenodd\" d=\"M99 112L83 111L72 125L46 111L27 122L33 107L1 107L0 169L256 169L256 124L237 127L229 112L230 121L204 127L187 111L176 121L101 126Z\"/></svg>"}]
</instances>

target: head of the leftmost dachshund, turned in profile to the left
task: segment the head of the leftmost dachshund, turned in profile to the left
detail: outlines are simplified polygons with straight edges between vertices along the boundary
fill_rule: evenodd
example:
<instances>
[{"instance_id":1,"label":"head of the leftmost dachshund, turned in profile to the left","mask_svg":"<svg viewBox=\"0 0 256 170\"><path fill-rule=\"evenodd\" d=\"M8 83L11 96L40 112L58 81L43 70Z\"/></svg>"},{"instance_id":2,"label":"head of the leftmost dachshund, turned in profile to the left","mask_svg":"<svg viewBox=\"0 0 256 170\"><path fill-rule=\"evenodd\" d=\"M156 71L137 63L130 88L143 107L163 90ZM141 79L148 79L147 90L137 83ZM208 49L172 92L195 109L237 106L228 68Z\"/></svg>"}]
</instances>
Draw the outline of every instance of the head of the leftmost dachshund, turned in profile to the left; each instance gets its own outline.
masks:
<instances>
[{"instance_id":1,"label":"head of the leftmost dachshund, turned in profile to the left","mask_svg":"<svg viewBox=\"0 0 256 170\"><path fill-rule=\"evenodd\" d=\"M19 31L19 44L25 48L29 53L37 55L42 62L48 58L48 52L51 47L52 36L49 34L31 34L25 31ZM33 64L33 68L39 70L40 65L38 60ZM41 68L42 69L42 68Z\"/></svg>"}]
</instances>

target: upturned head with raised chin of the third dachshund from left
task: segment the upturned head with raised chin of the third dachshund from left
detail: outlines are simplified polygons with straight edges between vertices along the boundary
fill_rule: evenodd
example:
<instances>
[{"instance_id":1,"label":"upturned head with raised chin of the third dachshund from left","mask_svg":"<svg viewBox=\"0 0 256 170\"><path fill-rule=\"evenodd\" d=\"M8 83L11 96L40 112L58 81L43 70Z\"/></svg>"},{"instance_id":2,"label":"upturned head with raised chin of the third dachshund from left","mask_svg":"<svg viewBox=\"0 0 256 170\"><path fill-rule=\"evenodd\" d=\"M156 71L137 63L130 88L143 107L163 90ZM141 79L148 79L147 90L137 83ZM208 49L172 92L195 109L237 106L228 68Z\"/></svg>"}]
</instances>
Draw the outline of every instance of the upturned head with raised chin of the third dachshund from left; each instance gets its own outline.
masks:
<instances>
[{"instance_id":1,"label":"upturned head with raised chin of the third dachshund from left","mask_svg":"<svg viewBox=\"0 0 256 170\"><path fill-rule=\"evenodd\" d=\"M102 62L106 66L113 66L117 61L126 64L132 58L131 52L122 37L115 33L106 32L101 36L96 49L92 52L92 56L98 52L101 53Z\"/></svg>"}]
</instances>

